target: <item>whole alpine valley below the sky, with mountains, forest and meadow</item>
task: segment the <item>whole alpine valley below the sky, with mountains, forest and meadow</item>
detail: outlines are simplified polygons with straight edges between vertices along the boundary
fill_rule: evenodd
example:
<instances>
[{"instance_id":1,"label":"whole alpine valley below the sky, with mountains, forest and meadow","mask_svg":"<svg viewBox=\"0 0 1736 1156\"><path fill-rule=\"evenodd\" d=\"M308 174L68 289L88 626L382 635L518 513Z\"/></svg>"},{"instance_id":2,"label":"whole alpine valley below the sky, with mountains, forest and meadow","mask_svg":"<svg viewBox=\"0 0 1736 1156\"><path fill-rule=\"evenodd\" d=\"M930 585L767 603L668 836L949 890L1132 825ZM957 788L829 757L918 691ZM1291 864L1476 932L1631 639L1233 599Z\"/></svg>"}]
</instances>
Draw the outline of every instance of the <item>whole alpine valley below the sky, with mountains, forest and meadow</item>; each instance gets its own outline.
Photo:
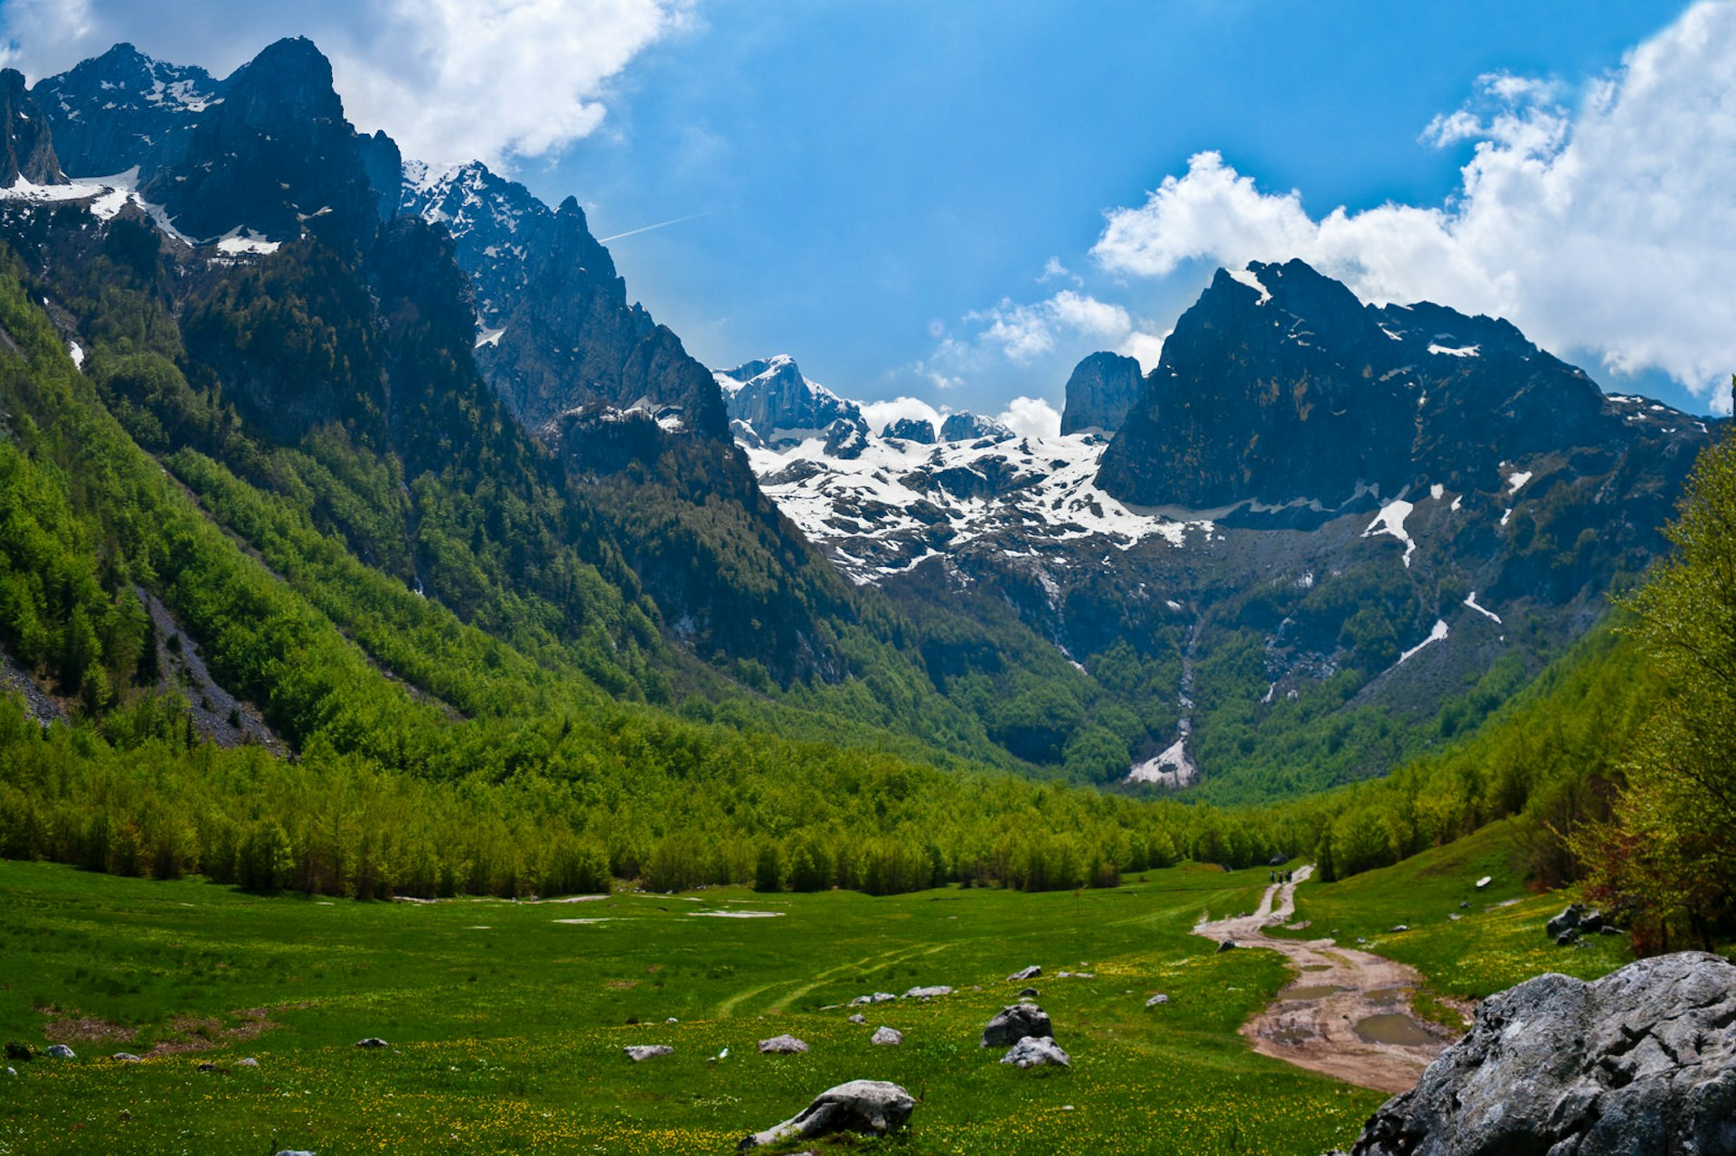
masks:
<instances>
[{"instance_id":1,"label":"whole alpine valley below the sky, with mountains, forest and meadow","mask_svg":"<svg viewBox=\"0 0 1736 1156\"><path fill-rule=\"evenodd\" d=\"M1736 1151L1727 420L1255 260L877 427L306 38L0 134L0 1154Z\"/></svg>"}]
</instances>

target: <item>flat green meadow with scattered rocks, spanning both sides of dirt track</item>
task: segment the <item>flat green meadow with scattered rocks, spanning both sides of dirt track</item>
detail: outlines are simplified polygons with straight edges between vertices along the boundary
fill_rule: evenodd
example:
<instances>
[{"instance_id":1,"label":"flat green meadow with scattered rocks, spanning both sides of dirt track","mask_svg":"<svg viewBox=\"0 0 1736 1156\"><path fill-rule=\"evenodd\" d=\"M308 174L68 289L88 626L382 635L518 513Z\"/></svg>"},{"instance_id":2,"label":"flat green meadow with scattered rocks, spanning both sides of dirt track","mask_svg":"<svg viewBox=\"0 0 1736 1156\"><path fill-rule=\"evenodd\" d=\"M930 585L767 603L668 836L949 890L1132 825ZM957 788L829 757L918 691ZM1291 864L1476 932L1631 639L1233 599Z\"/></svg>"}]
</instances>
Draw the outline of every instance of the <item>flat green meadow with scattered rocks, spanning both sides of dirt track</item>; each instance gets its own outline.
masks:
<instances>
[{"instance_id":1,"label":"flat green meadow with scattered rocks, spanning both sides of dirt track","mask_svg":"<svg viewBox=\"0 0 1736 1156\"><path fill-rule=\"evenodd\" d=\"M1514 927L1559 901L1448 922L1458 875L1479 863L1472 849L1311 883L1302 911L1354 937L1397 906L1443 908L1441 927L1384 934L1378 949L1453 991L1453 953L1514 951L1500 974L1517 975L1542 932L1521 943ZM918 1097L911 1126L840 1149L1316 1156L1352 1140L1382 1095L1252 1054L1236 1028L1288 969L1187 930L1252 910L1266 880L1180 866L1078 894L417 904L0 863L0 1036L78 1052L12 1061L0 1154L727 1153L826 1087L873 1078ZM1516 894L1503 880L1489 903ZM1602 944L1566 958L1620 963ZM1024 986L1005 977L1029 963L1071 1071L1017 1071L977 1047ZM844 1007L932 984L957 991ZM1170 1002L1147 1010L1158 991ZM903 1047L868 1041L882 1024ZM811 1052L757 1052L779 1033ZM365 1036L389 1047L354 1047ZM634 1064L630 1043L675 1052ZM146 1059L109 1059L122 1050Z\"/></svg>"}]
</instances>

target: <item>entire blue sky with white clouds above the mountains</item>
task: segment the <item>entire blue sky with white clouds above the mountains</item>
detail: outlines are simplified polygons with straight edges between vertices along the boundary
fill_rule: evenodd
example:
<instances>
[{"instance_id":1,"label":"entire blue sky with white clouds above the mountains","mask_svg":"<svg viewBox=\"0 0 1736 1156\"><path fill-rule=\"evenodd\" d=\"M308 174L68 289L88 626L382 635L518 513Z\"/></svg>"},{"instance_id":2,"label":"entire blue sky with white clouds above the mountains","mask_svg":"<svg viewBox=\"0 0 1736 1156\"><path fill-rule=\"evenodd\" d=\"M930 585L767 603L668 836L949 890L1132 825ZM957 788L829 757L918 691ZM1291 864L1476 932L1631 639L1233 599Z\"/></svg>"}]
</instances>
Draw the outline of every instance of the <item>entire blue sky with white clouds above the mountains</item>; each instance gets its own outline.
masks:
<instances>
[{"instance_id":1,"label":"entire blue sky with white clouds above the mountains","mask_svg":"<svg viewBox=\"0 0 1736 1156\"><path fill-rule=\"evenodd\" d=\"M875 418L1045 432L1082 356L1288 257L1729 411L1736 0L0 0L31 80L283 35L406 156L576 196L701 361Z\"/></svg>"}]
</instances>

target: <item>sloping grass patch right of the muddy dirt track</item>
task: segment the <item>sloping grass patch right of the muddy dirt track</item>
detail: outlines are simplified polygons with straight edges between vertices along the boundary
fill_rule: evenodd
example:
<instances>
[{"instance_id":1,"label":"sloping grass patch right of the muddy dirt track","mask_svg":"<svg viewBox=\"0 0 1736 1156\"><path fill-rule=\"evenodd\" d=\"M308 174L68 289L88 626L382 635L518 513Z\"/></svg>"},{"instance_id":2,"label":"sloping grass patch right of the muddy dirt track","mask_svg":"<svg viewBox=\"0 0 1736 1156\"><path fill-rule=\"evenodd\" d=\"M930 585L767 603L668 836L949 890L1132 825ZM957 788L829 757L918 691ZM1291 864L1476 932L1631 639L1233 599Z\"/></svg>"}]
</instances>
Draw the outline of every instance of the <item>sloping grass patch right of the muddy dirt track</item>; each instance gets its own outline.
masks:
<instances>
[{"instance_id":1,"label":"sloping grass patch right of the muddy dirt track","mask_svg":"<svg viewBox=\"0 0 1736 1156\"><path fill-rule=\"evenodd\" d=\"M1484 877L1489 883L1479 890ZM1526 892L1512 823L1502 821L1391 868L1300 883L1297 920L1309 927L1276 934L1330 936L1410 963L1430 981L1415 1000L1418 1014L1457 1028L1462 1021L1441 996L1481 1000L1545 972L1597 979L1634 958L1625 936L1557 948L1543 923L1564 904L1559 892ZM1399 925L1408 930L1392 930Z\"/></svg>"}]
</instances>

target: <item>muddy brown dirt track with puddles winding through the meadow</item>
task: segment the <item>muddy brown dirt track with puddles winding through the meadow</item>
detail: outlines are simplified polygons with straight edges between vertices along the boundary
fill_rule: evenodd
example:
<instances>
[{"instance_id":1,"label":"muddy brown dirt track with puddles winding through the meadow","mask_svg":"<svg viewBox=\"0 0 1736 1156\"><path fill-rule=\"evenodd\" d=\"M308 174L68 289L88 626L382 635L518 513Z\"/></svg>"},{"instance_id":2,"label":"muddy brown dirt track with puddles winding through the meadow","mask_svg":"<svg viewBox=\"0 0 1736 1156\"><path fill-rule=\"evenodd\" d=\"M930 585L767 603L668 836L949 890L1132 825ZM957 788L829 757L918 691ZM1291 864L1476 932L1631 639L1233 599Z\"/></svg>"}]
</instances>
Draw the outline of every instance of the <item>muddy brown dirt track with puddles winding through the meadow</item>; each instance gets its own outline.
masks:
<instances>
[{"instance_id":1,"label":"muddy brown dirt track with puddles winding through the meadow","mask_svg":"<svg viewBox=\"0 0 1736 1156\"><path fill-rule=\"evenodd\" d=\"M1422 1069L1451 1041L1448 1033L1411 1014L1410 993L1422 975L1368 951L1340 948L1332 939L1276 939L1267 927L1286 923L1295 911L1295 883L1312 875L1304 866L1292 883L1266 889L1253 915L1215 920L1194 927L1196 936L1219 943L1234 939L1240 948L1278 951L1297 969L1271 1007L1241 1026L1255 1052L1323 1071L1349 1083L1380 1092L1406 1092ZM1328 991L1330 989L1330 991ZM1469 1007L1462 1008L1469 1014ZM1415 1041L1375 1041L1358 1034L1410 1036Z\"/></svg>"}]
</instances>

